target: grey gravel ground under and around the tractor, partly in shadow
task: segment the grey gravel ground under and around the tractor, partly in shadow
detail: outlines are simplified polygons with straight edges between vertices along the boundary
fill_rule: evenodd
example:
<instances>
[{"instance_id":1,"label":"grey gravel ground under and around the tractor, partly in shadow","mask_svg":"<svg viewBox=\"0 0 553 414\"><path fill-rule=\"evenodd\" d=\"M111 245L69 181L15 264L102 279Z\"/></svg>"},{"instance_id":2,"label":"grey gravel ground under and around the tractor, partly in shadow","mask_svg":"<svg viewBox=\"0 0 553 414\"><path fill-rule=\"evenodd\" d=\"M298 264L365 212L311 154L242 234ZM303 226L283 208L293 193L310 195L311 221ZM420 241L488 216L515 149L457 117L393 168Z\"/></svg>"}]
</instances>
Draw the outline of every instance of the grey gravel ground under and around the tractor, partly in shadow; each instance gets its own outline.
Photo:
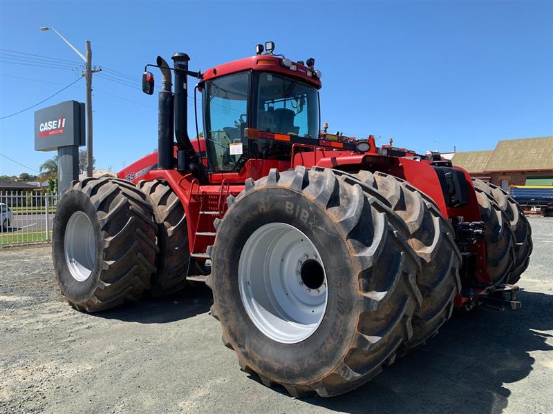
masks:
<instances>
[{"instance_id":1,"label":"grey gravel ground under and around the tractor, partly in shadow","mask_svg":"<svg viewBox=\"0 0 553 414\"><path fill-rule=\"evenodd\" d=\"M520 311L455 317L369 384L304 401L238 369L203 286L86 315L59 294L50 246L0 250L0 411L552 413L553 219L530 221Z\"/></svg>"}]
</instances>

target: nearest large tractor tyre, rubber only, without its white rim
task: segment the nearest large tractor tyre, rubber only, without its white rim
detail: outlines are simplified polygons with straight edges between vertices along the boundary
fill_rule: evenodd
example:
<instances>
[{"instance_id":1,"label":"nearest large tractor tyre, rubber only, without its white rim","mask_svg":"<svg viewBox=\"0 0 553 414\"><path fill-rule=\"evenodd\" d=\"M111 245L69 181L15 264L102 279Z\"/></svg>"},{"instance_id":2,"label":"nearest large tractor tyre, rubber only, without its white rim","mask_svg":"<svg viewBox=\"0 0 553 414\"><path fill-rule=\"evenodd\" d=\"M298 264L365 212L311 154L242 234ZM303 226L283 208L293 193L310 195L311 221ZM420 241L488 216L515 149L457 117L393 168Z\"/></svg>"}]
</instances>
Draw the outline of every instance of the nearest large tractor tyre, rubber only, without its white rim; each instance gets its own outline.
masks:
<instances>
[{"instance_id":1,"label":"nearest large tractor tyre, rubber only, without its white rim","mask_svg":"<svg viewBox=\"0 0 553 414\"><path fill-rule=\"evenodd\" d=\"M207 283L223 343L244 371L296 397L330 397L357 388L395 360L413 335L413 313L421 304L420 260L407 243L406 224L377 190L364 190L357 179L330 169L297 167L248 179L228 202L209 249ZM313 241L328 280L317 334L296 344L274 341L256 328L238 288L241 249L257 228L274 222L294 226Z\"/></svg>"}]
</instances>

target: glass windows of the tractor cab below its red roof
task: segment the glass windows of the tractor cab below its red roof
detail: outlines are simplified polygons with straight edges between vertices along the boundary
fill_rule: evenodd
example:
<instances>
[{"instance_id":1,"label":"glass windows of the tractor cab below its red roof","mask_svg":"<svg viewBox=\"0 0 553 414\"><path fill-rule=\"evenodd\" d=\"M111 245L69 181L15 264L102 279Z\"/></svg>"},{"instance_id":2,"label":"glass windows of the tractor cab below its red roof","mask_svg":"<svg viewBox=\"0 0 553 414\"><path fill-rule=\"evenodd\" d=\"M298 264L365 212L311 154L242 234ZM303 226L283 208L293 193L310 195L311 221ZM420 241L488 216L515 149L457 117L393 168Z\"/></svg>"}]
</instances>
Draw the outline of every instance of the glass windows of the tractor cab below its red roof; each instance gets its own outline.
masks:
<instances>
[{"instance_id":1,"label":"glass windows of the tractor cab below its red roof","mask_svg":"<svg viewBox=\"0 0 553 414\"><path fill-rule=\"evenodd\" d=\"M238 72L212 79L205 83L203 105L212 172L238 171L248 158L290 160L289 142L247 139L245 128L319 136L317 88L299 79L268 72Z\"/></svg>"}]
</instances>

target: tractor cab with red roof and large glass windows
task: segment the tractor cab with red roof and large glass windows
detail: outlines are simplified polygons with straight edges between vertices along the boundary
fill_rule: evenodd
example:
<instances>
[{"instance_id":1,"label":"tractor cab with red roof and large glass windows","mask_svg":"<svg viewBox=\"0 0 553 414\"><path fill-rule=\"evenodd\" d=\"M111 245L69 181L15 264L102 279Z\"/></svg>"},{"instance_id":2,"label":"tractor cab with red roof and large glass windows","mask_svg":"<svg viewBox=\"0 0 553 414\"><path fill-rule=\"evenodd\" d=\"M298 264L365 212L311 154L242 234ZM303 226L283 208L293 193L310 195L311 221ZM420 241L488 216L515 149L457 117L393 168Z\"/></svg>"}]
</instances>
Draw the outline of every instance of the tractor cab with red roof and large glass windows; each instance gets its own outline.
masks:
<instances>
[{"instance_id":1,"label":"tractor cab with red roof and large glass windows","mask_svg":"<svg viewBox=\"0 0 553 414\"><path fill-rule=\"evenodd\" d=\"M209 170L238 172L248 159L289 161L292 144L285 137L317 140L319 77L312 66L273 55L207 70L198 88ZM272 139L249 139L252 131Z\"/></svg>"}]
</instances>

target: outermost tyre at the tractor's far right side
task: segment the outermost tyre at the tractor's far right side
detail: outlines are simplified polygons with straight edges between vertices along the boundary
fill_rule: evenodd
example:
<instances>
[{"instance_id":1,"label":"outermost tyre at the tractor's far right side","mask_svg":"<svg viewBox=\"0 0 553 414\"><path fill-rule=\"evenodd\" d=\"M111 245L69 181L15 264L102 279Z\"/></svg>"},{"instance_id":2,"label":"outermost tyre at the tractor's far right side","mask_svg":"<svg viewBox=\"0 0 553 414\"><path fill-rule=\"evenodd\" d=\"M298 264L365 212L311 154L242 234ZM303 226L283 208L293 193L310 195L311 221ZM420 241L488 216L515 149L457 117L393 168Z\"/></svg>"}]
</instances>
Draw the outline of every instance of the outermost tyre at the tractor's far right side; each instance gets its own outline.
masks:
<instances>
[{"instance_id":1,"label":"outermost tyre at the tractor's far right side","mask_svg":"<svg viewBox=\"0 0 553 414\"><path fill-rule=\"evenodd\" d=\"M521 275L530 261L533 248L532 228L521 206L503 189L480 179L474 178L472 181L474 187L492 197L500 210L507 216L514 235L514 266L505 282L515 284L521 279Z\"/></svg>"}]
</instances>

